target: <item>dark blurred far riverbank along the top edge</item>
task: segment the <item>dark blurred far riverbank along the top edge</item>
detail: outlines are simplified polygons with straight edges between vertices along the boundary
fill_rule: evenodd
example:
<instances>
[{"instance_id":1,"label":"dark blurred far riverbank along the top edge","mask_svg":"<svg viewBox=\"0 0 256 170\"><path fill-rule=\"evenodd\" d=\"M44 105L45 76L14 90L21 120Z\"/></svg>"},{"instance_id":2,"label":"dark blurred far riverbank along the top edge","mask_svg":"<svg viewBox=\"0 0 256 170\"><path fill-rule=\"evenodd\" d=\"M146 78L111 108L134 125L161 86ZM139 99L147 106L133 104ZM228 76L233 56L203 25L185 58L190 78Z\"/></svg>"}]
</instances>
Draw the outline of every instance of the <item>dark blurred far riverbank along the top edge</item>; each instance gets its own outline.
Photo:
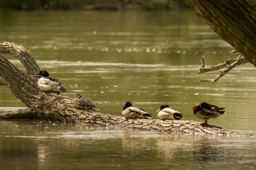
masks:
<instances>
[{"instance_id":1,"label":"dark blurred far riverbank along the top edge","mask_svg":"<svg viewBox=\"0 0 256 170\"><path fill-rule=\"evenodd\" d=\"M0 8L15 10L179 10L186 0L0 0Z\"/></svg>"}]
</instances>

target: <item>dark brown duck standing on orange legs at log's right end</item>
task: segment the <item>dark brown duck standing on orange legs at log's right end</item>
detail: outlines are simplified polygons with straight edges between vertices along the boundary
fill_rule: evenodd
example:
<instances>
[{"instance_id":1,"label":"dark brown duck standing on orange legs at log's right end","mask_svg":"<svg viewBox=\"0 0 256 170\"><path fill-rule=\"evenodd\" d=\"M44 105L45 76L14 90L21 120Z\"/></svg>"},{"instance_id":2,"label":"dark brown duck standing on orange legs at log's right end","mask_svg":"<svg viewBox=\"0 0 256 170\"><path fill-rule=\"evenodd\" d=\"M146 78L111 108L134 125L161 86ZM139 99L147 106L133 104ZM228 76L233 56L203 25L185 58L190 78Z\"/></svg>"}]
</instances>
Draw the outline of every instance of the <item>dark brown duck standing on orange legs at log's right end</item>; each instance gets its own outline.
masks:
<instances>
[{"instance_id":1,"label":"dark brown duck standing on orange legs at log's right end","mask_svg":"<svg viewBox=\"0 0 256 170\"><path fill-rule=\"evenodd\" d=\"M204 120L204 123L200 125L204 125L208 123L209 119L216 119L220 115L226 113L226 110L223 110L225 107L218 107L212 104L208 104L206 102L201 102L193 106L193 113L197 119Z\"/></svg>"}]
</instances>

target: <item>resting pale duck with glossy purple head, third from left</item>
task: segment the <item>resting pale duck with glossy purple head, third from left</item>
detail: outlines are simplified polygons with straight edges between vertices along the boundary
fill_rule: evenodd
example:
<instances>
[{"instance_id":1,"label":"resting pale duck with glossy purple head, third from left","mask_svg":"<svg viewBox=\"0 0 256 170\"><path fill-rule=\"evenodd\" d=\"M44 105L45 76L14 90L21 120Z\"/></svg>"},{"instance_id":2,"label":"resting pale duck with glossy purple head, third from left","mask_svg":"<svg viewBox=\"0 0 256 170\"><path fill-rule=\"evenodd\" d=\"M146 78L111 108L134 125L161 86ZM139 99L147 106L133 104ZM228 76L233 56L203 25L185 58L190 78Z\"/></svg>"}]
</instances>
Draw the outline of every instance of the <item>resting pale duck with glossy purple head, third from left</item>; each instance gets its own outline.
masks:
<instances>
[{"instance_id":1,"label":"resting pale duck with glossy purple head, third from left","mask_svg":"<svg viewBox=\"0 0 256 170\"><path fill-rule=\"evenodd\" d=\"M123 105L122 115L126 119L142 118L152 119L151 114L147 113L144 109L133 106L131 102L125 102Z\"/></svg>"}]
</instances>

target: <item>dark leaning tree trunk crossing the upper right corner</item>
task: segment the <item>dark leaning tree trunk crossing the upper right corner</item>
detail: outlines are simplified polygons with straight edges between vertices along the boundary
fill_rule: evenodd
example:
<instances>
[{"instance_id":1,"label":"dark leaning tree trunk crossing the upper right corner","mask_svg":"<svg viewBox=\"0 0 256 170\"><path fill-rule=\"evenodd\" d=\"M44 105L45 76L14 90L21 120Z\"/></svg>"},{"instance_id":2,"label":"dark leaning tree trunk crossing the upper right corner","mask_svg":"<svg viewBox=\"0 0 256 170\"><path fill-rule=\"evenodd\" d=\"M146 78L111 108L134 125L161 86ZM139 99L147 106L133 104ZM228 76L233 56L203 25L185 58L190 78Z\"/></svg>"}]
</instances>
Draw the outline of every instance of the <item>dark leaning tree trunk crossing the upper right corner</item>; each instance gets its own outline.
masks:
<instances>
[{"instance_id":1,"label":"dark leaning tree trunk crossing the upper right corner","mask_svg":"<svg viewBox=\"0 0 256 170\"><path fill-rule=\"evenodd\" d=\"M246 0L188 0L196 14L256 66L256 11Z\"/></svg>"}]
</instances>

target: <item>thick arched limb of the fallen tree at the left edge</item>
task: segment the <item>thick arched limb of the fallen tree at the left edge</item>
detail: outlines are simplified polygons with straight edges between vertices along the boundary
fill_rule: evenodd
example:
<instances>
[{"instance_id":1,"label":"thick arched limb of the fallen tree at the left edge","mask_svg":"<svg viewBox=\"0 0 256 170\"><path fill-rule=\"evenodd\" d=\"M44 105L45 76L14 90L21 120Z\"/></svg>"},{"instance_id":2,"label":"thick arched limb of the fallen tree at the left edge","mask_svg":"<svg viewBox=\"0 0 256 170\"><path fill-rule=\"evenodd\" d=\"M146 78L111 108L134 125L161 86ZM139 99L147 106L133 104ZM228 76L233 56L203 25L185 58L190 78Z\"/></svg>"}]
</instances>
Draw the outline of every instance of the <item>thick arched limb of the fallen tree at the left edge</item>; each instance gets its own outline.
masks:
<instances>
[{"instance_id":1,"label":"thick arched limb of the fallen tree at the left edge","mask_svg":"<svg viewBox=\"0 0 256 170\"><path fill-rule=\"evenodd\" d=\"M37 62L21 45L13 42L0 42L0 53L14 55L25 66L27 74L33 75L40 71Z\"/></svg>"}]
</instances>

